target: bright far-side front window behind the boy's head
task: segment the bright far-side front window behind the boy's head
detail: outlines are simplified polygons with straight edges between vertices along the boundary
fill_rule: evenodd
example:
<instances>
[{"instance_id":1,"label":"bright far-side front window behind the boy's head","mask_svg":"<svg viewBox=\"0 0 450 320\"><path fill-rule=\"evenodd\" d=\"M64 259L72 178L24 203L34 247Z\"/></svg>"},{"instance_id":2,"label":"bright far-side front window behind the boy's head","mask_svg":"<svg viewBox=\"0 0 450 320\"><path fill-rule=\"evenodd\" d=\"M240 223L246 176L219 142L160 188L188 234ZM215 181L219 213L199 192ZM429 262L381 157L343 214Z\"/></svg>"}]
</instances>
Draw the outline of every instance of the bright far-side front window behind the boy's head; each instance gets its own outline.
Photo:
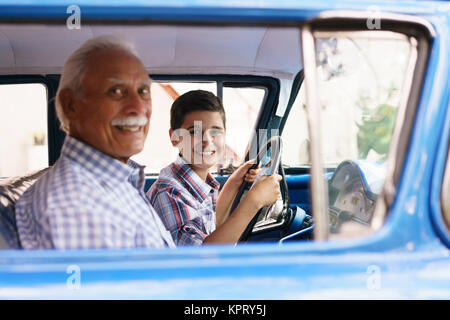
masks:
<instances>
[{"instance_id":1,"label":"bright far-side front window behind the boy's head","mask_svg":"<svg viewBox=\"0 0 450 320\"><path fill-rule=\"evenodd\" d=\"M169 136L170 108L178 96L197 89L218 94L217 83L214 81L153 82L152 116L148 137L144 150L132 157L146 166L147 174L159 174L162 168L175 160L178 150L172 146ZM227 118L227 162L238 165L245 157L249 137L264 99L265 89L225 87L222 95Z\"/></svg>"}]
</instances>

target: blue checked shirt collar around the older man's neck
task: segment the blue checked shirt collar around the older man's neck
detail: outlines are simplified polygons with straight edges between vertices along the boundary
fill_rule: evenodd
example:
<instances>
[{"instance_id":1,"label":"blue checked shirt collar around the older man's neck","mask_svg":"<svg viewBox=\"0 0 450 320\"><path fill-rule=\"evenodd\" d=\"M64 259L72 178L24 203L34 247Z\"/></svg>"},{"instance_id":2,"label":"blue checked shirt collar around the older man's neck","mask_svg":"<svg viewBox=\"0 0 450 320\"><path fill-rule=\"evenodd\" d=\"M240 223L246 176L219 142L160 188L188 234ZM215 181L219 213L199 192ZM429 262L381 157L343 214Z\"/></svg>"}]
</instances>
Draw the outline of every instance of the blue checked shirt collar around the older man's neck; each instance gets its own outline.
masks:
<instances>
[{"instance_id":1,"label":"blue checked shirt collar around the older man's neck","mask_svg":"<svg viewBox=\"0 0 450 320\"><path fill-rule=\"evenodd\" d=\"M144 166L133 160L128 160L128 165L124 164L71 136L66 136L61 156L79 163L95 176L109 182L123 183L129 180L138 188L144 183Z\"/></svg>"}]
</instances>

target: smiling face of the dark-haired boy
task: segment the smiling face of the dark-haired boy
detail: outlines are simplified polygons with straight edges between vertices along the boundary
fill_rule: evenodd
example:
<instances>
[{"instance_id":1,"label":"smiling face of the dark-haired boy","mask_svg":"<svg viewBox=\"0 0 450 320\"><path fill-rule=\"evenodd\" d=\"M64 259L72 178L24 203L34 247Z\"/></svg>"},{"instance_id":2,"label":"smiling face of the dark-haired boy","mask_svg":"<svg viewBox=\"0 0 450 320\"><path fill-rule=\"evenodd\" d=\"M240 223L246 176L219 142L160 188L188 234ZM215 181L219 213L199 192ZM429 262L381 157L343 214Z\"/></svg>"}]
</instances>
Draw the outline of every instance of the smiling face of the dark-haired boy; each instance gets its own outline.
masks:
<instances>
[{"instance_id":1,"label":"smiling face of the dark-haired boy","mask_svg":"<svg viewBox=\"0 0 450 320\"><path fill-rule=\"evenodd\" d=\"M209 170L222 158L225 150L225 128L222 116L215 111L188 113L177 132L170 131L174 146L196 170ZM178 134L178 136L176 136Z\"/></svg>"}]
</instances>

